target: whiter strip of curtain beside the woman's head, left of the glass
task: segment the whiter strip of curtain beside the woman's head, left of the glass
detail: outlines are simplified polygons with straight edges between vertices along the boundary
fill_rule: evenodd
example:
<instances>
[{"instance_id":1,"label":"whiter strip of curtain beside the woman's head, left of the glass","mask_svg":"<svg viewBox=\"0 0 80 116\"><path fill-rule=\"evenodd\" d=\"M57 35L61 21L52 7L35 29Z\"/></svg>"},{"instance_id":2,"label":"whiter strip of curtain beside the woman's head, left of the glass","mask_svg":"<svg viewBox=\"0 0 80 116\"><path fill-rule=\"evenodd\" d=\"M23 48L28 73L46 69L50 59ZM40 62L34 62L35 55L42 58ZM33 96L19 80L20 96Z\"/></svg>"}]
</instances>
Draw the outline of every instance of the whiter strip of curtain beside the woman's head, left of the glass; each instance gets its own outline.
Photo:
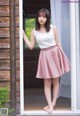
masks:
<instances>
[{"instance_id":1,"label":"whiter strip of curtain beside the woman's head, left of the glass","mask_svg":"<svg viewBox=\"0 0 80 116\"><path fill-rule=\"evenodd\" d=\"M54 24L61 40L61 0L50 0L51 5L51 23Z\"/></svg>"}]
</instances>

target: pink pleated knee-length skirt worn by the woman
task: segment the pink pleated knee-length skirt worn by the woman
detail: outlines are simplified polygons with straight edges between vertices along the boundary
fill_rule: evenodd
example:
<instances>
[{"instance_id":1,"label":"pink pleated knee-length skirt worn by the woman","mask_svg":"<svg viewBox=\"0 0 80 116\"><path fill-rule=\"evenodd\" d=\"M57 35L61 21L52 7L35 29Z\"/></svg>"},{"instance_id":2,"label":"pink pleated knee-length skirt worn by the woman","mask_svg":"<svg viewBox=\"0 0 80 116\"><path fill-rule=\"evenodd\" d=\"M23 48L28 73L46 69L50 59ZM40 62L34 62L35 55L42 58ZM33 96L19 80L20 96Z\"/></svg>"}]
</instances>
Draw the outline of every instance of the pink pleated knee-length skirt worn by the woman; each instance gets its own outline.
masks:
<instances>
[{"instance_id":1,"label":"pink pleated knee-length skirt worn by the woman","mask_svg":"<svg viewBox=\"0 0 80 116\"><path fill-rule=\"evenodd\" d=\"M57 78L70 71L70 62L57 45L40 50L36 78Z\"/></svg>"}]
</instances>

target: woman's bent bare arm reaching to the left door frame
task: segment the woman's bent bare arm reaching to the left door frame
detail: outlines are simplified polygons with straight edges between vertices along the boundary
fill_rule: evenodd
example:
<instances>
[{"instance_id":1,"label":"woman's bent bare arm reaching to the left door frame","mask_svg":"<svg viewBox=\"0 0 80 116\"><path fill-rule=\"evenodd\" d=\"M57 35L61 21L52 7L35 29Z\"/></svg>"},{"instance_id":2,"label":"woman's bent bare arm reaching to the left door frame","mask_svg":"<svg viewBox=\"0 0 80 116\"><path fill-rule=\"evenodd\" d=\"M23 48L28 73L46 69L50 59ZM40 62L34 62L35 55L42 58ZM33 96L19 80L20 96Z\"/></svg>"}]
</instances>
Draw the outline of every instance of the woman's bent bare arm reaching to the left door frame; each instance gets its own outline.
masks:
<instances>
[{"instance_id":1,"label":"woman's bent bare arm reaching to the left door frame","mask_svg":"<svg viewBox=\"0 0 80 116\"><path fill-rule=\"evenodd\" d=\"M24 38L24 41L25 43L27 44L27 46L29 47L30 50L32 50L35 46L35 43L36 43L36 40L35 40L35 37L34 37L34 33L33 33L33 30L31 32L31 39L29 41L28 37L26 36L25 32L23 31L23 38Z\"/></svg>"}]
</instances>

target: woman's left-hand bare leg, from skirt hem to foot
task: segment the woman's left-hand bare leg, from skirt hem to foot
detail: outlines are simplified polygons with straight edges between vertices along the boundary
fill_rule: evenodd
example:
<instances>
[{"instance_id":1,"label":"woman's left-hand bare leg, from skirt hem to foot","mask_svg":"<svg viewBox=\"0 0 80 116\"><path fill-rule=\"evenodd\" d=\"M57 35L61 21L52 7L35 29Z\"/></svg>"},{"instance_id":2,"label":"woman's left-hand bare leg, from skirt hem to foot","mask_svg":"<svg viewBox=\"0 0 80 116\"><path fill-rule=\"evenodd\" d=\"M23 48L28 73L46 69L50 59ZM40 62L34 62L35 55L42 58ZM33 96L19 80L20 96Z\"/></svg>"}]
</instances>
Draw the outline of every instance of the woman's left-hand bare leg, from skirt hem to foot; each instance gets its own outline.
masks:
<instances>
[{"instance_id":1,"label":"woman's left-hand bare leg, from skirt hem to foot","mask_svg":"<svg viewBox=\"0 0 80 116\"><path fill-rule=\"evenodd\" d=\"M48 106L44 107L44 110L48 110L51 106L51 79L44 79L44 93L48 103Z\"/></svg>"}]
</instances>

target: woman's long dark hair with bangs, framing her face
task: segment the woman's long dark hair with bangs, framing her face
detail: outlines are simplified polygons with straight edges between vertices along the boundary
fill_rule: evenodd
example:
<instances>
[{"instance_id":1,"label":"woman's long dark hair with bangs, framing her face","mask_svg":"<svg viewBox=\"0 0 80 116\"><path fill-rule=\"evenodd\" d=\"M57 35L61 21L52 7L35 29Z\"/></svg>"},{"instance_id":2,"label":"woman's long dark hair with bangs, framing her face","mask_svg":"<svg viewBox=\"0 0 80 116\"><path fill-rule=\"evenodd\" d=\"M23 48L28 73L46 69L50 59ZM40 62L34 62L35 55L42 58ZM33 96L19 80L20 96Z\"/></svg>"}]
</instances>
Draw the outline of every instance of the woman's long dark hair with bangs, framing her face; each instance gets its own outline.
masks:
<instances>
[{"instance_id":1,"label":"woman's long dark hair with bangs, framing her face","mask_svg":"<svg viewBox=\"0 0 80 116\"><path fill-rule=\"evenodd\" d=\"M39 12L36 16L36 30L40 29L40 24L38 22L38 17L40 16L40 14L45 15L45 17L47 18L47 21L45 23L45 28L46 28L46 31L49 32L49 30L50 30L50 12L45 8L42 8L41 10L39 10Z\"/></svg>"}]
</instances>

